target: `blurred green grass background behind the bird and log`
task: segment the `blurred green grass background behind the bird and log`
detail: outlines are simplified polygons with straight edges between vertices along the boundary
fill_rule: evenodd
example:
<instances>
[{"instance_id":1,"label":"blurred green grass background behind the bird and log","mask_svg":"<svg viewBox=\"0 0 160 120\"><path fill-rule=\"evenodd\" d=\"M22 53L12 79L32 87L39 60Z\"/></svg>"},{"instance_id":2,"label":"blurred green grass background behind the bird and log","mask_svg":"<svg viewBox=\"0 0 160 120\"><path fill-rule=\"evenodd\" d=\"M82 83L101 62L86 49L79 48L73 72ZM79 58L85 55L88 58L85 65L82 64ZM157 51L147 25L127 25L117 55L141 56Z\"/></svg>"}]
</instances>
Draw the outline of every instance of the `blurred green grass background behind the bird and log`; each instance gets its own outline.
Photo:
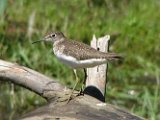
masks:
<instances>
[{"instance_id":1,"label":"blurred green grass background behind the bird and log","mask_svg":"<svg viewBox=\"0 0 160 120\"><path fill-rule=\"evenodd\" d=\"M122 64L109 65L106 102L151 120L160 119L158 0L8 0L1 11L0 59L58 78L69 87L75 82L72 70L51 54L51 45L32 45L32 41L55 30L87 44L93 34L120 33L111 50L125 59ZM4 114L4 119L44 103L23 88L8 83L0 86L0 111L4 111L0 116Z\"/></svg>"}]
</instances>

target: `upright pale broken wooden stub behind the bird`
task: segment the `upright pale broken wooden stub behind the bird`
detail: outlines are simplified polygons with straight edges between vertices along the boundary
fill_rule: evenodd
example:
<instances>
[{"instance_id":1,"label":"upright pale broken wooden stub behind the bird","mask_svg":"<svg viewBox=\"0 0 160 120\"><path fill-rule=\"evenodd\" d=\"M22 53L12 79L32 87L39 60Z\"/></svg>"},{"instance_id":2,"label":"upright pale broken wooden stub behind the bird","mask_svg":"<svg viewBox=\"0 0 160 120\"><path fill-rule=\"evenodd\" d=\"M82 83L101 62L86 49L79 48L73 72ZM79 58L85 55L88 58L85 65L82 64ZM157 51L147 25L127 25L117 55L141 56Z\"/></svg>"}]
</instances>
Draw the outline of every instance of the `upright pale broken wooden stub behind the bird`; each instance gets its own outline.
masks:
<instances>
[{"instance_id":1,"label":"upright pale broken wooden stub behind the bird","mask_svg":"<svg viewBox=\"0 0 160 120\"><path fill-rule=\"evenodd\" d=\"M94 35L91 41L91 47L101 52L108 52L109 39L110 36L106 35L97 40ZM93 96L102 102L105 101L107 68L107 63L93 68L87 68L87 80L84 93Z\"/></svg>"}]
</instances>

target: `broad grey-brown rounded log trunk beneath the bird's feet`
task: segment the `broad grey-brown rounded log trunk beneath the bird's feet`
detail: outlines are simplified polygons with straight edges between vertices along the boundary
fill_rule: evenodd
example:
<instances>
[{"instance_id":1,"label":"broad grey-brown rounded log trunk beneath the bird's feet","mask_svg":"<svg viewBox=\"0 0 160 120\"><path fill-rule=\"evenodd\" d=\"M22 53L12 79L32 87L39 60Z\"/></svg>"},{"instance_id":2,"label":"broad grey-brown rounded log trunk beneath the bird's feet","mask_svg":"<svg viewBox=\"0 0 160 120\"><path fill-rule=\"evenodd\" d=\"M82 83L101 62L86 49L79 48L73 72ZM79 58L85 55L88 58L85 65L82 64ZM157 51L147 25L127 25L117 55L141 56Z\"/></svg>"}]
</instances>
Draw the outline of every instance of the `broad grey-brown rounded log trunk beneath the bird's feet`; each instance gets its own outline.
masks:
<instances>
[{"instance_id":1,"label":"broad grey-brown rounded log trunk beneath the bird's feet","mask_svg":"<svg viewBox=\"0 0 160 120\"><path fill-rule=\"evenodd\" d=\"M84 95L71 102L51 102L21 120L142 120L125 110Z\"/></svg>"}]
</instances>

